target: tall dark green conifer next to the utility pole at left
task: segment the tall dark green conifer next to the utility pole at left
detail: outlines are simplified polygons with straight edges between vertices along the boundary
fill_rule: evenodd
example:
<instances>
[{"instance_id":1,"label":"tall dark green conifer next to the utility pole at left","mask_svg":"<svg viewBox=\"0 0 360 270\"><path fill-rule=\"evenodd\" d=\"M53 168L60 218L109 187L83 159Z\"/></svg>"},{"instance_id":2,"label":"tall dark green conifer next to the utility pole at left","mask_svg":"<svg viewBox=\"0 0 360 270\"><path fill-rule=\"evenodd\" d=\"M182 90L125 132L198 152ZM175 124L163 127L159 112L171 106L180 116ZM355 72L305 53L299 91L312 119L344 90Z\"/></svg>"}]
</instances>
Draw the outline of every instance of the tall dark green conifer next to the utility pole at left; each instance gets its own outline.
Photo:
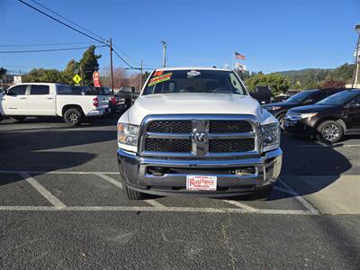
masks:
<instances>
[{"instance_id":1,"label":"tall dark green conifer next to the utility pole at left","mask_svg":"<svg viewBox=\"0 0 360 270\"><path fill-rule=\"evenodd\" d=\"M80 76L82 75L84 85L94 85L93 83L93 73L95 70L99 69L99 63L97 62L98 58L101 58L101 54L95 55L96 47L91 45L88 49L85 50L83 58L79 61Z\"/></svg>"}]
</instances>

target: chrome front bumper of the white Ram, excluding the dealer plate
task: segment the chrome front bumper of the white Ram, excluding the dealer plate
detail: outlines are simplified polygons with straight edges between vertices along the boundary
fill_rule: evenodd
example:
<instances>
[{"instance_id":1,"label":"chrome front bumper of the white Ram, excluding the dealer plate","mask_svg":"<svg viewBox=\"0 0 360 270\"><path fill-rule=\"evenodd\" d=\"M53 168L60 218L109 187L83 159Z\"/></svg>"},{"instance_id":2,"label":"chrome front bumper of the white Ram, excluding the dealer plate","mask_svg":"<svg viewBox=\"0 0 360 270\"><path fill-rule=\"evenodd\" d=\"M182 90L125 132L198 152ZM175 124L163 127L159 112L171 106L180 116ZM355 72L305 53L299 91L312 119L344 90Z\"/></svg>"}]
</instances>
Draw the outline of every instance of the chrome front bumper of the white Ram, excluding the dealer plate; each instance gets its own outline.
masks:
<instances>
[{"instance_id":1,"label":"chrome front bumper of the white Ram, excluding the dealer plate","mask_svg":"<svg viewBox=\"0 0 360 270\"><path fill-rule=\"evenodd\" d=\"M275 183L280 175L283 152L280 148L261 157L238 159L162 159L139 157L119 148L121 176L130 189L157 195L227 197L256 193ZM153 168L160 170L154 173ZM246 174L234 174L246 170ZM163 172L163 173L161 173ZM187 191L186 175L217 176L217 191Z\"/></svg>"}]
</instances>

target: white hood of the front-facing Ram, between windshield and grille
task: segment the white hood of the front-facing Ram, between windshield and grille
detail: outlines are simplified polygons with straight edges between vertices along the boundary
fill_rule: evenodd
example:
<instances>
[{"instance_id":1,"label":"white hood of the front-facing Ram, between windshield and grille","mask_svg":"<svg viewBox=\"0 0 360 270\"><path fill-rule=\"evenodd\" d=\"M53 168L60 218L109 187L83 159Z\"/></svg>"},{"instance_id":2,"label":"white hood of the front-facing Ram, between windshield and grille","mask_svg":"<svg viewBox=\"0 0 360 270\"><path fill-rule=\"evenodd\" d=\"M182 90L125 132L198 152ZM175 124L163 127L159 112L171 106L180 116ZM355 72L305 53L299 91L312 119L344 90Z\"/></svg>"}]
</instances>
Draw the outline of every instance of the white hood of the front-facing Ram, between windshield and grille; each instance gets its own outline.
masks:
<instances>
[{"instance_id":1,"label":"white hood of the front-facing Ram, between windshield and grille","mask_svg":"<svg viewBox=\"0 0 360 270\"><path fill-rule=\"evenodd\" d=\"M257 100L248 95L175 93L140 95L127 112L127 121L139 125L154 114L250 114L261 124L276 121ZM126 116L124 116L126 117ZM121 117L121 120L123 117Z\"/></svg>"}]
</instances>

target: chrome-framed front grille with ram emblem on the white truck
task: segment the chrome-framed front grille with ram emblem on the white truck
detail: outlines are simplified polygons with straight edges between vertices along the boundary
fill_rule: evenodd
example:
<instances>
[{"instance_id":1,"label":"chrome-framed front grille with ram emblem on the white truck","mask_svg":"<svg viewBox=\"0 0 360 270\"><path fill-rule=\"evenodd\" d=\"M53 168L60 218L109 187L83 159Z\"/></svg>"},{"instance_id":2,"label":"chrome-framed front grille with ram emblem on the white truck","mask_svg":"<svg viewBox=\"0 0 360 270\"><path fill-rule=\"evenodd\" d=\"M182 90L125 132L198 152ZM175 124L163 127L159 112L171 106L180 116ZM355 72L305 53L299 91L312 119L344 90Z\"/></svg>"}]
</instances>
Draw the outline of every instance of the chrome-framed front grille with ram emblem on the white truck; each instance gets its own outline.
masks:
<instances>
[{"instance_id":1,"label":"chrome-framed front grille with ram emblem on the white truck","mask_svg":"<svg viewBox=\"0 0 360 270\"><path fill-rule=\"evenodd\" d=\"M259 153L257 119L248 115L150 115L141 156L229 157Z\"/></svg>"}]
</instances>

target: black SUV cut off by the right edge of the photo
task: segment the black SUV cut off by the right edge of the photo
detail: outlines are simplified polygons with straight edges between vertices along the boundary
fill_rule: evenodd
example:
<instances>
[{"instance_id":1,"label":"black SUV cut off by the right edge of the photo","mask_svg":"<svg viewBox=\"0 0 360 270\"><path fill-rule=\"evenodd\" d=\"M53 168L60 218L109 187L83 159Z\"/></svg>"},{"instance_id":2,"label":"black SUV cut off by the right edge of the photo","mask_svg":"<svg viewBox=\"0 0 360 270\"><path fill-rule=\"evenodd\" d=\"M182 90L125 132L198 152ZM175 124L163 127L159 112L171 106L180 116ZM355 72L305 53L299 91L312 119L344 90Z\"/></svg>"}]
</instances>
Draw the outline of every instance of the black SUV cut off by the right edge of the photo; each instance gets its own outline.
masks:
<instances>
[{"instance_id":1,"label":"black SUV cut off by the right edge of the photo","mask_svg":"<svg viewBox=\"0 0 360 270\"><path fill-rule=\"evenodd\" d=\"M319 103L289 110L284 128L329 143L347 134L360 134L360 89L342 91Z\"/></svg>"}]
</instances>

